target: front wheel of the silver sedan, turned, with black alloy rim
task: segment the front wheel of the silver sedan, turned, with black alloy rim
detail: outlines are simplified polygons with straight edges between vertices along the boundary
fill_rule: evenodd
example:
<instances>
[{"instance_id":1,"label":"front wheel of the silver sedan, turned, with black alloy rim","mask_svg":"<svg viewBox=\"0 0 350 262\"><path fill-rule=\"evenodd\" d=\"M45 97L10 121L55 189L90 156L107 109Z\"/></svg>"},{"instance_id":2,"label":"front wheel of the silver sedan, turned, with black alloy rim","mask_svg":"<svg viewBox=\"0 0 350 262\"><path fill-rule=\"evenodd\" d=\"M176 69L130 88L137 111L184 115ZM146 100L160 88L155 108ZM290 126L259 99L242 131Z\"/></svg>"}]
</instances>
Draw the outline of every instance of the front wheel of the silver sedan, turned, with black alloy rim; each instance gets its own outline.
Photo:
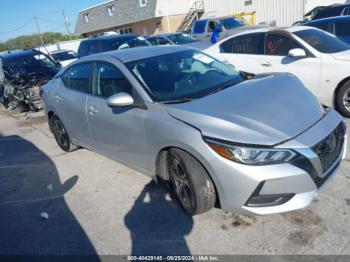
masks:
<instances>
[{"instance_id":1,"label":"front wheel of the silver sedan, turned, with black alloy rim","mask_svg":"<svg viewBox=\"0 0 350 262\"><path fill-rule=\"evenodd\" d=\"M193 156L180 149L170 149L167 164L170 184L187 213L194 216L215 206L214 184Z\"/></svg>"}]
</instances>

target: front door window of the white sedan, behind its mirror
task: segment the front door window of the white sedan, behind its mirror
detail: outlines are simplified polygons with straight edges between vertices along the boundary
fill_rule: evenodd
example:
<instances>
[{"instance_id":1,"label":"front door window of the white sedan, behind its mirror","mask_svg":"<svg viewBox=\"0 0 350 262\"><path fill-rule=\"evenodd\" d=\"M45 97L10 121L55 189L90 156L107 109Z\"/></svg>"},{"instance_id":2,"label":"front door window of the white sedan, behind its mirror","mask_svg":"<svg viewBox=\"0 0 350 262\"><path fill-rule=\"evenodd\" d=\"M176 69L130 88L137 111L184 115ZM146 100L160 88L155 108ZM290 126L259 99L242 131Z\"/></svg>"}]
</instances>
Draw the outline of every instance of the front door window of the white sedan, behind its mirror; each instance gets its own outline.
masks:
<instances>
[{"instance_id":1,"label":"front door window of the white sedan, behind its mirror","mask_svg":"<svg viewBox=\"0 0 350 262\"><path fill-rule=\"evenodd\" d=\"M294 48L301 48L293 39L282 35L268 35L266 37L265 54L287 56Z\"/></svg>"}]
</instances>

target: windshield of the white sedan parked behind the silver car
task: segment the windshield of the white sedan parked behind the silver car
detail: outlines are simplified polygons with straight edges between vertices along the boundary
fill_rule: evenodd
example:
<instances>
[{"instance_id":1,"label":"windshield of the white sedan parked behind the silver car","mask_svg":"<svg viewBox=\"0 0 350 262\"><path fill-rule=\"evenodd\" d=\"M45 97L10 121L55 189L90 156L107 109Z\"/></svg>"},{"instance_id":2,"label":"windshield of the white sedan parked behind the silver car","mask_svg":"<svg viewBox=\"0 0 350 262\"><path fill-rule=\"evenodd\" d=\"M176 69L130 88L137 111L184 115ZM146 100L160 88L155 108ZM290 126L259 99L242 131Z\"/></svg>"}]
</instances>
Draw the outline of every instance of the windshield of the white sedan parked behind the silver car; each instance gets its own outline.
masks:
<instances>
[{"instance_id":1,"label":"windshield of the white sedan parked behind the silver car","mask_svg":"<svg viewBox=\"0 0 350 262\"><path fill-rule=\"evenodd\" d=\"M336 36L316 29L300 30L294 32L294 35L300 37L321 53L333 54L350 49L348 44L339 40Z\"/></svg>"}]
</instances>

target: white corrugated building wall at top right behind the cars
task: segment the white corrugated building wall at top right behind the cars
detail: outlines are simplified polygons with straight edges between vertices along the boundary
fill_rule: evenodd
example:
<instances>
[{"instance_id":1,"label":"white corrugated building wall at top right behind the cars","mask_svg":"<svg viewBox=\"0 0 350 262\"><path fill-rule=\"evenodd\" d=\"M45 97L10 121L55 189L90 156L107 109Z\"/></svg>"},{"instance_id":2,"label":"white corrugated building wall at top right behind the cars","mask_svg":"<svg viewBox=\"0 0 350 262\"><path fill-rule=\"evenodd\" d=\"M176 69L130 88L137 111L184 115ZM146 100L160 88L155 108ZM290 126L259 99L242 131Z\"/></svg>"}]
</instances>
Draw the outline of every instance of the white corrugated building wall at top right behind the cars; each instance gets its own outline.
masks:
<instances>
[{"instance_id":1,"label":"white corrugated building wall at top right behind the cars","mask_svg":"<svg viewBox=\"0 0 350 262\"><path fill-rule=\"evenodd\" d=\"M240 12L256 11L256 23L276 21L278 26L289 26L318 5L344 3L347 0L204 0L207 17L218 17ZM349 1L349 0L348 0Z\"/></svg>"}]
</instances>

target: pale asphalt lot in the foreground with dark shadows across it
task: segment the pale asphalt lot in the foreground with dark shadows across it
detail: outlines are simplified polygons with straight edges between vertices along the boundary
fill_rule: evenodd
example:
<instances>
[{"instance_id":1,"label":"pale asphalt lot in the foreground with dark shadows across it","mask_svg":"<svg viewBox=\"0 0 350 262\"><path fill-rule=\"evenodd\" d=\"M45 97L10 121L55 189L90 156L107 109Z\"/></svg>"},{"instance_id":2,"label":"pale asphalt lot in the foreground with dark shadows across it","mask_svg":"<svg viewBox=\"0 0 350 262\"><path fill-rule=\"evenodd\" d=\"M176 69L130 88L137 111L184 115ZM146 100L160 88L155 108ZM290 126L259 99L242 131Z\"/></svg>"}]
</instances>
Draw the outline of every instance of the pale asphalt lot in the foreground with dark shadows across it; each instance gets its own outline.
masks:
<instances>
[{"instance_id":1,"label":"pale asphalt lot in the foreground with dark shadows across it","mask_svg":"<svg viewBox=\"0 0 350 262\"><path fill-rule=\"evenodd\" d=\"M0 111L0 254L349 255L349 171L348 153L303 210L192 218L148 177L60 150L43 113Z\"/></svg>"}]
</instances>

